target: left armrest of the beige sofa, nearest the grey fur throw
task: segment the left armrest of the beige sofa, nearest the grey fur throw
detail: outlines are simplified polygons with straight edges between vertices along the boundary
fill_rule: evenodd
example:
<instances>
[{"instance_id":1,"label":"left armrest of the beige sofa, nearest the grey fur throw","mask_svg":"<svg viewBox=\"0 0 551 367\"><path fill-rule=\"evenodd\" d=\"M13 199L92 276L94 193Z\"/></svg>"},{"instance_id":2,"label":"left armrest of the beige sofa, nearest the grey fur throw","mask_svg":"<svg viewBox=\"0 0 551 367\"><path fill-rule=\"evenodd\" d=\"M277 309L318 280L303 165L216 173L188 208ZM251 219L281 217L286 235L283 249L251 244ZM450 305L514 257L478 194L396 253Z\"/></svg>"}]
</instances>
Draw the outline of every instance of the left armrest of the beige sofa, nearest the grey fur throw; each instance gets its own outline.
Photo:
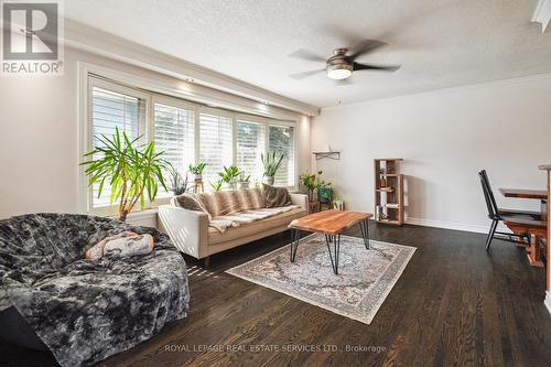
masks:
<instances>
[{"instance_id":1,"label":"left armrest of the beige sofa, nearest the grey fur throw","mask_svg":"<svg viewBox=\"0 0 551 367\"><path fill-rule=\"evenodd\" d=\"M159 206L159 229L182 252L196 259L207 257L208 215L172 205Z\"/></svg>"}]
</instances>

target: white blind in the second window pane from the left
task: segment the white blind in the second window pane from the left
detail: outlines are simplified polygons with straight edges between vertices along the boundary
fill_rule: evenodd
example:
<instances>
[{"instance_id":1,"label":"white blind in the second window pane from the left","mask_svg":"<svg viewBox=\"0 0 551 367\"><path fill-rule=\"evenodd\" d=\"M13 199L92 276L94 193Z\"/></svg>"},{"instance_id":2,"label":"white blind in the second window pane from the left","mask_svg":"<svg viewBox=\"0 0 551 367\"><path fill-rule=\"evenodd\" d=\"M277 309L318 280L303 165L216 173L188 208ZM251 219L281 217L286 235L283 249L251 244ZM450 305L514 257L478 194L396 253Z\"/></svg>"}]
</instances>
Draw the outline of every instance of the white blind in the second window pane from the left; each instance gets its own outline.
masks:
<instances>
[{"instance_id":1,"label":"white blind in the second window pane from the left","mask_svg":"<svg viewBox=\"0 0 551 367\"><path fill-rule=\"evenodd\" d=\"M190 163L195 162L195 112L191 109L154 102L155 151L164 151L164 159L185 177ZM170 185L170 177L166 185ZM168 187L170 190L170 187ZM159 197L172 196L159 190Z\"/></svg>"}]
</instances>

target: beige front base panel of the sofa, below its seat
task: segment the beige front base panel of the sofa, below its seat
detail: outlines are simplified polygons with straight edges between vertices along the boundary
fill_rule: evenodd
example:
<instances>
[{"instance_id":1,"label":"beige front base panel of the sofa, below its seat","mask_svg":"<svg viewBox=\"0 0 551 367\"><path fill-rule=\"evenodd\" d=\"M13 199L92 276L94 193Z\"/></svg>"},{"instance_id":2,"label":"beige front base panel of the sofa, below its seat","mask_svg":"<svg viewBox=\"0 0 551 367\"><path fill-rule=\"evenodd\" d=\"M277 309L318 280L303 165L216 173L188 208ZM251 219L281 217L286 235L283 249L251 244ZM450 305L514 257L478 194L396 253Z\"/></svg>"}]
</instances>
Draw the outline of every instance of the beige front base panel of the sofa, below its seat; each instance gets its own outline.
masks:
<instances>
[{"instance_id":1,"label":"beige front base panel of the sofa, below its seat","mask_svg":"<svg viewBox=\"0 0 551 367\"><path fill-rule=\"evenodd\" d=\"M280 226L287 226L293 219L300 218L304 215L305 211L299 207L262 220L244 224L240 225L239 227L229 227L224 231L224 234L222 234L216 228L208 227L208 245L218 245L226 241L239 239L241 237L247 237L262 230L268 230Z\"/></svg>"}]
</instances>

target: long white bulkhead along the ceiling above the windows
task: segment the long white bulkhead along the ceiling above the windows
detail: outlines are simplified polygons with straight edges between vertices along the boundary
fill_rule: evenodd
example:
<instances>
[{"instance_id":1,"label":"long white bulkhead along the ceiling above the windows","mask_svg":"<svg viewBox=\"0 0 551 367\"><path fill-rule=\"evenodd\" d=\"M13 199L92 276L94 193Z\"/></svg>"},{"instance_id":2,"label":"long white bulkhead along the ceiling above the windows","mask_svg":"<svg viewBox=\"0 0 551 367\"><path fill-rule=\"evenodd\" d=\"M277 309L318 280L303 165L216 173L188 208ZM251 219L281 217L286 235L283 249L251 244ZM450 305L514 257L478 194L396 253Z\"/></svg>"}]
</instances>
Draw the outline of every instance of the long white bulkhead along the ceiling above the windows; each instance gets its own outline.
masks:
<instances>
[{"instance_id":1,"label":"long white bulkhead along the ceiling above the windows","mask_svg":"<svg viewBox=\"0 0 551 367\"><path fill-rule=\"evenodd\" d=\"M65 22L65 44L76 50L191 82L192 85L245 97L267 107L276 106L306 116L320 115L320 107L278 95L72 20Z\"/></svg>"}]
</instances>

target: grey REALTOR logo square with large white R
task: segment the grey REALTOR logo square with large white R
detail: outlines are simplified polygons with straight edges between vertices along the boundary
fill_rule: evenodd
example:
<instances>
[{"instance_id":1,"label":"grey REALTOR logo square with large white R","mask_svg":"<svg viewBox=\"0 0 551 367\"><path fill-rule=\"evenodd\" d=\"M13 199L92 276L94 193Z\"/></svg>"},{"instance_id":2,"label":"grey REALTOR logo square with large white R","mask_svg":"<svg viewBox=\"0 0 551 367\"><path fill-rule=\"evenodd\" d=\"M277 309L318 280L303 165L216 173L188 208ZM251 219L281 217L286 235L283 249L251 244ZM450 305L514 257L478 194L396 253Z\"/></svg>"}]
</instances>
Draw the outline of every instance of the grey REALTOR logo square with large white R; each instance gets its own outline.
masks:
<instances>
[{"instance_id":1,"label":"grey REALTOR logo square with large white R","mask_svg":"<svg viewBox=\"0 0 551 367\"><path fill-rule=\"evenodd\" d=\"M60 1L2 1L2 75L61 75Z\"/></svg>"}]
</instances>

